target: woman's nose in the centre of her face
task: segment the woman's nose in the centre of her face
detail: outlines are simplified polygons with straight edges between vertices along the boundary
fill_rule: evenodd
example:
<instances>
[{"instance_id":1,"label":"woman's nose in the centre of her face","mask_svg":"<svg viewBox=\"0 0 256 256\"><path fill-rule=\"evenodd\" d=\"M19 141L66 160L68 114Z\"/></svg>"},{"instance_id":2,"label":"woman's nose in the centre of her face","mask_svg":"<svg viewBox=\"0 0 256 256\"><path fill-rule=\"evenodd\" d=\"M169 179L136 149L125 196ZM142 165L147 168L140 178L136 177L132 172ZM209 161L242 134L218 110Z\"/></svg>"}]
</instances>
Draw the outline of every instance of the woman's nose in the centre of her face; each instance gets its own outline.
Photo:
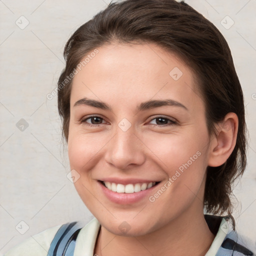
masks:
<instances>
[{"instance_id":1,"label":"woman's nose in the centre of her face","mask_svg":"<svg viewBox=\"0 0 256 256\"><path fill-rule=\"evenodd\" d=\"M129 165L134 167L134 164L140 165L145 161L144 150L145 144L132 127L126 131L117 127L106 145L105 161L118 169L129 168Z\"/></svg>"}]
</instances>

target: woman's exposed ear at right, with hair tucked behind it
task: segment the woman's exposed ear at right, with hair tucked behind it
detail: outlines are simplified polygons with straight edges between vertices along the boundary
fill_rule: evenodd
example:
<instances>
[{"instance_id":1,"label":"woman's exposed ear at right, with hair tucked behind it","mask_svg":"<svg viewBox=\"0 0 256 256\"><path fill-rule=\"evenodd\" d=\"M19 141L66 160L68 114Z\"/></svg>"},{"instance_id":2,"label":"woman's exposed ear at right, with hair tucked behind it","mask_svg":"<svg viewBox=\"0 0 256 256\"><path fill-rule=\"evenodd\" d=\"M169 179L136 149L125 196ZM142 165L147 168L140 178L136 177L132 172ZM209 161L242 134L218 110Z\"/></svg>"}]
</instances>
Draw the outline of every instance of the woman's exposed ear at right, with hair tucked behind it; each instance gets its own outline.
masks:
<instances>
[{"instance_id":1,"label":"woman's exposed ear at right, with hair tucked behind it","mask_svg":"<svg viewBox=\"0 0 256 256\"><path fill-rule=\"evenodd\" d=\"M210 141L208 165L212 167L223 164L232 153L237 137L238 117L227 113L224 120L216 124L217 134Z\"/></svg>"}]
</instances>

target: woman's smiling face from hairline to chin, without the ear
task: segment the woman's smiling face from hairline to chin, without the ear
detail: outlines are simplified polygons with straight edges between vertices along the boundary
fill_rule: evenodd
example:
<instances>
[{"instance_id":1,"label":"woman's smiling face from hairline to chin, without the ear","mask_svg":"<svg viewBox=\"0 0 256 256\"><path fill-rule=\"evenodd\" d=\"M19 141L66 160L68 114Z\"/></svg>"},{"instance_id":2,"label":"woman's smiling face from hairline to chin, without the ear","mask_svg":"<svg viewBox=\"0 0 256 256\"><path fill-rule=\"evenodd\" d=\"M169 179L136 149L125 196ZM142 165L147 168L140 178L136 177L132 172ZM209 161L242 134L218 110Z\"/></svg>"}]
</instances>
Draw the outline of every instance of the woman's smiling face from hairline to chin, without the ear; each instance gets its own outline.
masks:
<instances>
[{"instance_id":1,"label":"woman's smiling face from hairline to chin, without the ear","mask_svg":"<svg viewBox=\"0 0 256 256\"><path fill-rule=\"evenodd\" d=\"M202 214L210 140L190 68L152 43L103 45L84 63L72 82L68 155L91 213L125 235Z\"/></svg>"}]
</instances>

